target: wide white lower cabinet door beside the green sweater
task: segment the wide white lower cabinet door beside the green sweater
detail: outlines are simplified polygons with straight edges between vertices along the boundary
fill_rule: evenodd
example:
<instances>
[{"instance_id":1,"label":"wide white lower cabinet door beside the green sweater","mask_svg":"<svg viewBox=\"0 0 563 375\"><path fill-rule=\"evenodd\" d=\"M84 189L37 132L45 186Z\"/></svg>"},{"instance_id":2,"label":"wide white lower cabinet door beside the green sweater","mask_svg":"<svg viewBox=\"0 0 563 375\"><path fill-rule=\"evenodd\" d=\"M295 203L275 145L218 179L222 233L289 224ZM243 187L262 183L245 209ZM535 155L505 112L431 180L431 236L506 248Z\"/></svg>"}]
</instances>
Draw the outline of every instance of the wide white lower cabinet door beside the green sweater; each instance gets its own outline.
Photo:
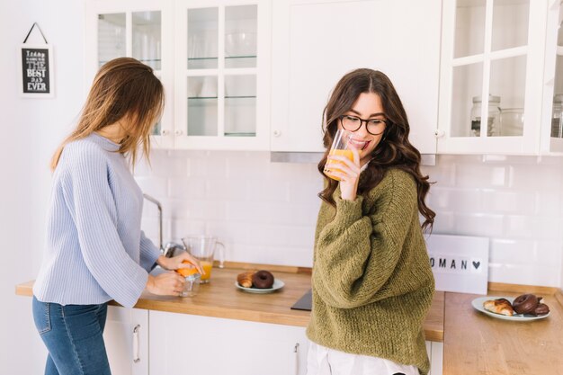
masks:
<instances>
[{"instance_id":1,"label":"wide white lower cabinet door beside the green sweater","mask_svg":"<svg viewBox=\"0 0 563 375\"><path fill-rule=\"evenodd\" d=\"M151 375L305 375L305 328L150 312Z\"/></svg>"}]
</instances>

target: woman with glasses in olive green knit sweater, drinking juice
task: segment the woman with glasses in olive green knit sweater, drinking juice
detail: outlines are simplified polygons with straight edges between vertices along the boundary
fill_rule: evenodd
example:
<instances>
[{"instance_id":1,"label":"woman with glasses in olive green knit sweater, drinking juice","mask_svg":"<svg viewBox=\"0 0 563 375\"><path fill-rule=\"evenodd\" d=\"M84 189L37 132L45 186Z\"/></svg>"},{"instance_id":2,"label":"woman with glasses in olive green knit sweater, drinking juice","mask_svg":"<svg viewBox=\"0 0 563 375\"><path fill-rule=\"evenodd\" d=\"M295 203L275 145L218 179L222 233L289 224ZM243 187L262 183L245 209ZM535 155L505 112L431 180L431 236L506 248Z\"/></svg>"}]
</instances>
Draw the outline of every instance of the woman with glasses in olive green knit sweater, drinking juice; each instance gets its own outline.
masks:
<instances>
[{"instance_id":1,"label":"woman with glasses in olive green knit sweater, drinking juice","mask_svg":"<svg viewBox=\"0 0 563 375\"><path fill-rule=\"evenodd\" d=\"M435 214L407 114L387 76L357 69L335 86L324 118L318 169L340 181L325 175L319 193L308 375L426 374L434 280L423 230ZM336 129L353 132L353 161L328 156Z\"/></svg>"}]
</instances>

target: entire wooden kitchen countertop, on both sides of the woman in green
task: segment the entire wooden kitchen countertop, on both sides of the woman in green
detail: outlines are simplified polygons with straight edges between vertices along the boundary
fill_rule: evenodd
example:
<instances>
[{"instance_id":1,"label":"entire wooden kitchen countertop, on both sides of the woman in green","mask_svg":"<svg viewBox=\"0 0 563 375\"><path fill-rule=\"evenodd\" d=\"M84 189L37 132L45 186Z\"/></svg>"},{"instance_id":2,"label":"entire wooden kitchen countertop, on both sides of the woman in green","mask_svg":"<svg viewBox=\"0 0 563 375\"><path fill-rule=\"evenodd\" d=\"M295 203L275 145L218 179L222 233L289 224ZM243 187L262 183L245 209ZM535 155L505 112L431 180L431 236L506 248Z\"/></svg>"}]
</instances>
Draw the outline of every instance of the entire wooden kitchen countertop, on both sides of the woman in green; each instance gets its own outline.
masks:
<instances>
[{"instance_id":1,"label":"entire wooden kitchen countertop, on both sides of the woman in green","mask_svg":"<svg viewBox=\"0 0 563 375\"><path fill-rule=\"evenodd\" d=\"M309 312L290 307L310 289L310 269L227 263L214 268L210 284L193 298L160 297L144 292L136 308L207 317L226 317L289 326L307 326ZM267 269L285 282L271 294L251 294L235 287L245 269ZM16 286L31 296L33 281ZM436 291L424 322L426 340L443 342L443 375L563 374L563 294L557 288L489 283L489 296L516 297L531 292L544 297L550 317L515 322L488 317L471 306L474 294ZM111 302L117 305L115 302Z\"/></svg>"}]
</instances>

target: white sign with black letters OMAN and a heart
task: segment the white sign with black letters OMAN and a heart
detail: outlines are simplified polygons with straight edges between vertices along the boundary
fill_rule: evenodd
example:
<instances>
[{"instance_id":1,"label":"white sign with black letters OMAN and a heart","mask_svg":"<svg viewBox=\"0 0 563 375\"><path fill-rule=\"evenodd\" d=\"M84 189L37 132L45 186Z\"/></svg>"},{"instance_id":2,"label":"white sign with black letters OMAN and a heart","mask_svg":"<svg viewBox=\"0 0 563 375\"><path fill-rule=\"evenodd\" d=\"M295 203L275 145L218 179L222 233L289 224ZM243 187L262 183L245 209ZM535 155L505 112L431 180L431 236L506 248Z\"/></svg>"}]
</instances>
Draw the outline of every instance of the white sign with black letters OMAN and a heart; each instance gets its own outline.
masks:
<instances>
[{"instance_id":1,"label":"white sign with black letters OMAN and a heart","mask_svg":"<svg viewBox=\"0 0 563 375\"><path fill-rule=\"evenodd\" d=\"M487 294L488 242L487 237L426 237L436 290Z\"/></svg>"}]
</instances>

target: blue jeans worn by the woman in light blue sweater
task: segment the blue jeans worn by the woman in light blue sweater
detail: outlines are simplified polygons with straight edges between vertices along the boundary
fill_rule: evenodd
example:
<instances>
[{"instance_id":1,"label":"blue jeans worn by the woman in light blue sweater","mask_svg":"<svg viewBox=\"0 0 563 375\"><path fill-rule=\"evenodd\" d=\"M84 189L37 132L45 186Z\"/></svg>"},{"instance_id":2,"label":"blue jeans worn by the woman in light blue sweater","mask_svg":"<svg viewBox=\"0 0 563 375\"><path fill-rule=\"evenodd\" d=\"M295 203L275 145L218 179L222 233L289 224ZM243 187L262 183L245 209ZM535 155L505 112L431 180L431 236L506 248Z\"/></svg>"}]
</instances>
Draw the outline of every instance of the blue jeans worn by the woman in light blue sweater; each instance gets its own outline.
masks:
<instances>
[{"instance_id":1,"label":"blue jeans worn by the woman in light blue sweater","mask_svg":"<svg viewBox=\"0 0 563 375\"><path fill-rule=\"evenodd\" d=\"M33 296L33 320L49 355L45 375L111 375L103 344L108 305L41 302Z\"/></svg>"}]
</instances>

